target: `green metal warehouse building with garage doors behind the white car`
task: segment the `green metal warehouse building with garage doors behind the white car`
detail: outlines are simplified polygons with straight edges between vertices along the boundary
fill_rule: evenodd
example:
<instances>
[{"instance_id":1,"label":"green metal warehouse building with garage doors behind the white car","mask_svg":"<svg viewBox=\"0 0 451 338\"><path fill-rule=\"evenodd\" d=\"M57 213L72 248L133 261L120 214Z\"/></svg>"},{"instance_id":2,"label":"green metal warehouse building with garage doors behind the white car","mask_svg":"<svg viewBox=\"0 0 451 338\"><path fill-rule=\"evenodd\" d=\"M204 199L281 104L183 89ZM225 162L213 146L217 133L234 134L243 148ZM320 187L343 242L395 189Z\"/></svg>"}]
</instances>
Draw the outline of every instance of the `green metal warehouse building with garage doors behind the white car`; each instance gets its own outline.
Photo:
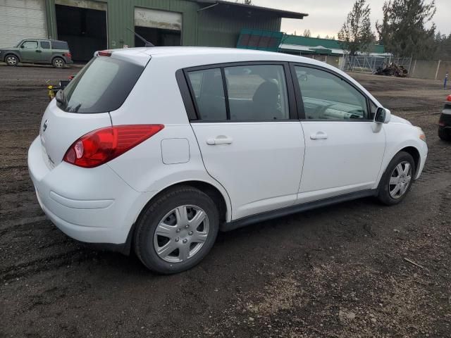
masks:
<instances>
[{"instance_id":1,"label":"green metal warehouse building with garage doors behind the white car","mask_svg":"<svg viewBox=\"0 0 451 338\"><path fill-rule=\"evenodd\" d=\"M67 41L75 61L99 49L142 46L235 47L243 28L280 31L307 14L218 0L0 0L0 46L24 38Z\"/></svg>"}]
</instances>

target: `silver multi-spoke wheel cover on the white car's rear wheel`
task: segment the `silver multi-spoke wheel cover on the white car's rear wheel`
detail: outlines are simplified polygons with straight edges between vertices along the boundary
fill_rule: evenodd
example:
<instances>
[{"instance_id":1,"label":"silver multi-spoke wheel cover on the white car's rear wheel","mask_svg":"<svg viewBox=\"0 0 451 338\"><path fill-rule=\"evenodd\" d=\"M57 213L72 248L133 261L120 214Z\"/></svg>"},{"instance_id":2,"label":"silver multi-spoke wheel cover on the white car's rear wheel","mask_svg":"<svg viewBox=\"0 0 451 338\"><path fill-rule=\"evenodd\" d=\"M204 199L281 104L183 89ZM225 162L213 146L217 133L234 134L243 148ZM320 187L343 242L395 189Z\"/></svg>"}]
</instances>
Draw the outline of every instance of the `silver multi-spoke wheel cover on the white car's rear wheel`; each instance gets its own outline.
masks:
<instances>
[{"instance_id":1,"label":"silver multi-spoke wheel cover on the white car's rear wheel","mask_svg":"<svg viewBox=\"0 0 451 338\"><path fill-rule=\"evenodd\" d=\"M154 249L163 261L180 263L192 258L209 235L209 218L198 206L178 206L156 226Z\"/></svg>"}]
</instances>

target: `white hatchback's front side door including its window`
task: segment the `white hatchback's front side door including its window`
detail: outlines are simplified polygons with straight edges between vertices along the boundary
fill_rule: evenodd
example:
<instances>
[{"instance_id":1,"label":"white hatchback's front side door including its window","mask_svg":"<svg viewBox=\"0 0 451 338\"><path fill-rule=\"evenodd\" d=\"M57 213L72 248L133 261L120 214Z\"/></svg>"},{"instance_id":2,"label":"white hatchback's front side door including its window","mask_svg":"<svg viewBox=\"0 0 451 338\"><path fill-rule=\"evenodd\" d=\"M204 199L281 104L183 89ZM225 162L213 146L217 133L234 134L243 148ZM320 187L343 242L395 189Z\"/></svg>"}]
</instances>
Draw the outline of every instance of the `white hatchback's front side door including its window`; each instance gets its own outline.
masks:
<instances>
[{"instance_id":1,"label":"white hatchback's front side door including its window","mask_svg":"<svg viewBox=\"0 0 451 338\"><path fill-rule=\"evenodd\" d=\"M292 72L306 146L298 203L373 189L385 150L374 104L332 70L294 65Z\"/></svg>"}]
</instances>

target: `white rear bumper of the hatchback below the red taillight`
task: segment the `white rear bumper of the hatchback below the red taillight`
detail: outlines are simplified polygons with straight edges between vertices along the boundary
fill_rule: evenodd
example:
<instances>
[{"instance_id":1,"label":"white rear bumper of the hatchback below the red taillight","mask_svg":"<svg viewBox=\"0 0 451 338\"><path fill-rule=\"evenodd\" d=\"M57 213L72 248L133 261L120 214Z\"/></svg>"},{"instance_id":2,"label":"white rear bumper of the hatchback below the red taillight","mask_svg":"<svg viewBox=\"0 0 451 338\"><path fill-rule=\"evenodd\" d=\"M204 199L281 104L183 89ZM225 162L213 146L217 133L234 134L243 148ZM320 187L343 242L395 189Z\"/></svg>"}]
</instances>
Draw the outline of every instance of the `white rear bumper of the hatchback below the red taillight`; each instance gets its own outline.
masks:
<instances>
[{"instance_id":1,"label":"white rear bumper of the hatchback below the red taillight","mask_svg":"<svg viewBox=\"0 0 451 338\"><path fill-rule=\"evenodd\" d=\"M81 242L125 244L152 195L132 189L108 165L85 169L61 162L50 170L39 137L28 151L28 170L44 213Z\"/></svg>"}]
</instances>

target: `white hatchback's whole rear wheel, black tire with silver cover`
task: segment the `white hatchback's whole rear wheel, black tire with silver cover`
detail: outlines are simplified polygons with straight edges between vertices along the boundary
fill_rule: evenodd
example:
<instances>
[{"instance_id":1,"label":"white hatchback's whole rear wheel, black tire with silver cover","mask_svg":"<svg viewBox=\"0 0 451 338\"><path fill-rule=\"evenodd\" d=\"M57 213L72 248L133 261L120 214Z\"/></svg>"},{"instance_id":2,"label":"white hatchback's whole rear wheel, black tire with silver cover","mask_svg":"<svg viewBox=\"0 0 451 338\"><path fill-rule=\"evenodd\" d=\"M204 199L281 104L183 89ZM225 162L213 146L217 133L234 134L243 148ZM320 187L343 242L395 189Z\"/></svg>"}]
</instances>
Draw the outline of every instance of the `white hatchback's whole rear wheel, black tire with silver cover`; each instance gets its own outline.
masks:
<instances>
[{"instance_id":1,"label":"white hatchback's whole rear wheel, black tire with silver cover","mask_svg":"<svg viewBox=\"0 0 451 338\"><path fill-rule=\"evenodd\" d=\"M206 218L199 223L202 215ZM144 208L135 230L135 253L149 270L180 273L202 261L213 247L218 230L219 213L214 201L199 189L175 187Z\"/></svg>"}]
</instances>

